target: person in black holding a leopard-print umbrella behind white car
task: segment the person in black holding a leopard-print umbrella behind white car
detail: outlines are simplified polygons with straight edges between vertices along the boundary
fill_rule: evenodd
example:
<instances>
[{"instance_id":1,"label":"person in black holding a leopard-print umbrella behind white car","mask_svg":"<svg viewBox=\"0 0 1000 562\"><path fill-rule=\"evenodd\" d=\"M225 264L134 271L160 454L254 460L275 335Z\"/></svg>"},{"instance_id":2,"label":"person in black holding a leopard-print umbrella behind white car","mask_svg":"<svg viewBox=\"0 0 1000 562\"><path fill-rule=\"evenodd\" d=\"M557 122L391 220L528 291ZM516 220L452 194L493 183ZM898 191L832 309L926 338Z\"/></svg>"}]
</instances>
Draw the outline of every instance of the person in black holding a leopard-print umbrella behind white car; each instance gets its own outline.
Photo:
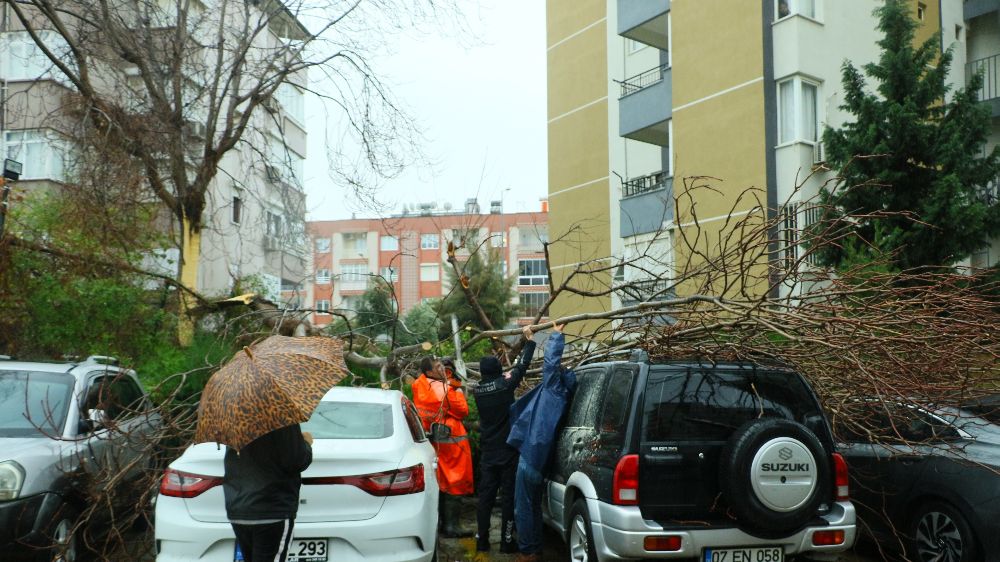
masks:
<instances>
[{"instance_id":1,"label":"person in black holding a leopard-print umbrella behind white car","mask_svg":"<svg viewBox=\"0 0 1000 562\"><path fill-rule=\"evenodd\" d=\"M226 445L226 514L246 562L286 559L312 463L312 436L299 424L347 373L340 340L271 336L205 385L195 442Z\"/></svg>"}]
</instances>

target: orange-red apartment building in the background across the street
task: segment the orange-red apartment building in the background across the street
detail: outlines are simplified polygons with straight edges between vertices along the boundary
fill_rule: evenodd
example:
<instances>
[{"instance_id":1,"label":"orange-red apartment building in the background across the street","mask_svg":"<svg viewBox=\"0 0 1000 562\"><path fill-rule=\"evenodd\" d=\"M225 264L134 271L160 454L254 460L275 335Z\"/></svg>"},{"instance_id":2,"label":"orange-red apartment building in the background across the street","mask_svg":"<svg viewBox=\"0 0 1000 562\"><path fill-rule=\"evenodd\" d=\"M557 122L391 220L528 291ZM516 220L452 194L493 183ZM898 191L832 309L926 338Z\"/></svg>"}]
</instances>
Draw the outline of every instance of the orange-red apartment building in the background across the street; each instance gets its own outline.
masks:
<instances>
[{"instance_id":1,"label":"orange-red apartment building in the background across the street","mask_svg":"<svg viewBox=\"0 0 1000 562\"><path fill-rule=\"evenodd\" d=\"M459 259L477 246L501 252L505 274L516 275L516 302L524 318L537 314L549 296L544 243L548 241L545 202L538 212L504 213L494 201L480 212L475 200L452 212L424 204L384 219L310 221L313 247L312 322L329 324L328 310L352 314L361 296L380 275L393 285L400 313L417 304L445 296L448 244L463 246Z\"/></svg>"}]
</instances>

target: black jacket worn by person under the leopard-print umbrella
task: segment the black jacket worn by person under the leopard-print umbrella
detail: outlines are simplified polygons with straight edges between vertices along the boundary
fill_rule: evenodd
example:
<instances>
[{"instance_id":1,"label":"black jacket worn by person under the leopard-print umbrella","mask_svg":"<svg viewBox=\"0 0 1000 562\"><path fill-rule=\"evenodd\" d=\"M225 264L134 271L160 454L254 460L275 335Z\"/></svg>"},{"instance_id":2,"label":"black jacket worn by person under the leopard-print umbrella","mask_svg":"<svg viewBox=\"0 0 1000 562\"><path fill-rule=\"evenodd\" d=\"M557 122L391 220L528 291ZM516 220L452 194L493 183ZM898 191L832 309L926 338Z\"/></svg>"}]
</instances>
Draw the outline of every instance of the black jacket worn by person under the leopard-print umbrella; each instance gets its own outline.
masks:
<instances>
[{"instance_id":1,"label":"black jacket worn by person under the leopard-print umbrella","mask_svg":"<svg viewBox=\"0 0 1000 562\"><path fill-rule=\"evenodd\" d=\"M222 490L229 519L294 519L302 471L311 463L299 424L258 437L239 454L227 448Z\"/></svg>"}]
</instances>

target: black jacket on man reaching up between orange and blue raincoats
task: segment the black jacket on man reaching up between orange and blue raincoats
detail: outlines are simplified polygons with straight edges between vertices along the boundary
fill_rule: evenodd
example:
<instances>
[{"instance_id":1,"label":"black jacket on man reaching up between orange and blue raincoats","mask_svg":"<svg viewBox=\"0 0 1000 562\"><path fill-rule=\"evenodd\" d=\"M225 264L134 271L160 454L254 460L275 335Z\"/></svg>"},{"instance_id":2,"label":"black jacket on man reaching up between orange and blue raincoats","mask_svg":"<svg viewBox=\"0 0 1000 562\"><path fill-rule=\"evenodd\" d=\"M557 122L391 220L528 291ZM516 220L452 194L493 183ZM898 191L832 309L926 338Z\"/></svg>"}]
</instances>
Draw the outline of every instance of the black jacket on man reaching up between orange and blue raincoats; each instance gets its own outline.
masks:
<instances>
[{"instance_id":1,"label":"black jacket on man reaching up between orange and blue raincoats","mask_svg":"<svg viewBox=\"0 0 1000 562\"><path fill-rule=\"evenodd\" d=\"M479 409L479 450L483 464L505 464L517 456L517 449L507 444L510 405L514 403L514 390L521 384L534 353L535 342L528 340L509 379L499 376L483 380L472 391Z\"/></svg>"}]
</instances>

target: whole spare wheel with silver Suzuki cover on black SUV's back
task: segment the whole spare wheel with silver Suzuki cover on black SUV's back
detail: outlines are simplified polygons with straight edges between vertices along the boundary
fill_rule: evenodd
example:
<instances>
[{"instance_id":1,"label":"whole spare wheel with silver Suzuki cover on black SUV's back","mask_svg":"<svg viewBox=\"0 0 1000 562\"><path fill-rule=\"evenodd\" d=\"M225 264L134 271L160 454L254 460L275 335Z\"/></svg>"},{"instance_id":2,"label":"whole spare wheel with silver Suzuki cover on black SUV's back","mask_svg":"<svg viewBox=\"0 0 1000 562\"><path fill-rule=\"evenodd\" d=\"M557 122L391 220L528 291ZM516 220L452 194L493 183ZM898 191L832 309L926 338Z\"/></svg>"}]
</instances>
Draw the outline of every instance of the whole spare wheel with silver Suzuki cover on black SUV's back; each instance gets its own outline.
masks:
<instances>
[{"instance_id":1,"label":"whole spare wheel with silver Suzuki cover on black SUV's back","mask_svg":"<svg viewBox=\"0 0 1000 562\"><path fill-rule=\"evenodd\" d=\"M740 527L760 536L795 531L832 493L830 452L806 426L747 422L719 458L719 487Z\"/></svg>"}]
</instances>

